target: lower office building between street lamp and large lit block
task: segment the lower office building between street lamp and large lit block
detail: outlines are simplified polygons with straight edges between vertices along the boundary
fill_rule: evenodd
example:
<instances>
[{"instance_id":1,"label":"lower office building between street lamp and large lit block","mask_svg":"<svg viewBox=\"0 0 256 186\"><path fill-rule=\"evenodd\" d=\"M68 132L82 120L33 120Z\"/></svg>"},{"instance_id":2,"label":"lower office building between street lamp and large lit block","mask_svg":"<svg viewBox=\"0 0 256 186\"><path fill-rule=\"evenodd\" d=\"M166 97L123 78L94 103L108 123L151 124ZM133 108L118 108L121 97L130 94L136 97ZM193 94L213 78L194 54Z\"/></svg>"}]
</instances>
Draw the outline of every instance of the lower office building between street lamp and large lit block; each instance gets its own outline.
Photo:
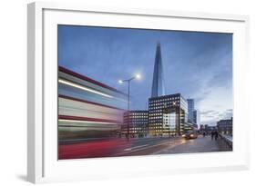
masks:
<instances>
[{"instance_id":1,"label":"lower office building between street lamp and large lit block","mask_svg":"<svg viewBox=\"0 0 256 186\"><path fill-rule=\"evenodd\" d=\"M122 133L129 133L129 135L134 137L146 136L148 133L148 111L125 112L124 124L122 125Z\"/></svg>"}]
</instances>

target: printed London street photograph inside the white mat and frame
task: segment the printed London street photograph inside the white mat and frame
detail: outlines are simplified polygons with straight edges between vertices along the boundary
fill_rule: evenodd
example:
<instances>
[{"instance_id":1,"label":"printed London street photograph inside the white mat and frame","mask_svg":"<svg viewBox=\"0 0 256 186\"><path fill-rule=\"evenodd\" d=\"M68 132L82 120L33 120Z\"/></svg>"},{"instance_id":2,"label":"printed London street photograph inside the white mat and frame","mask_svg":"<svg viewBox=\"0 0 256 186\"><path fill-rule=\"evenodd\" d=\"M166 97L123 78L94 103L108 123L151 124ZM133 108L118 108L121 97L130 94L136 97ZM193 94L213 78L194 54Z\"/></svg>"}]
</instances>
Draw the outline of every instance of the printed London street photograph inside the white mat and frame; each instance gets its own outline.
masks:
<instances>
[{"instance_id":1,"label":"printed London street photograph inside the white mat and frame","mask_svg":"<svg viewBox=\"0 0 256 186\"><path fill-rule=\"evenodd\" d=\"M232 152L233 34L57 24L57 159Z\"/></svg>"}]
</instances>

